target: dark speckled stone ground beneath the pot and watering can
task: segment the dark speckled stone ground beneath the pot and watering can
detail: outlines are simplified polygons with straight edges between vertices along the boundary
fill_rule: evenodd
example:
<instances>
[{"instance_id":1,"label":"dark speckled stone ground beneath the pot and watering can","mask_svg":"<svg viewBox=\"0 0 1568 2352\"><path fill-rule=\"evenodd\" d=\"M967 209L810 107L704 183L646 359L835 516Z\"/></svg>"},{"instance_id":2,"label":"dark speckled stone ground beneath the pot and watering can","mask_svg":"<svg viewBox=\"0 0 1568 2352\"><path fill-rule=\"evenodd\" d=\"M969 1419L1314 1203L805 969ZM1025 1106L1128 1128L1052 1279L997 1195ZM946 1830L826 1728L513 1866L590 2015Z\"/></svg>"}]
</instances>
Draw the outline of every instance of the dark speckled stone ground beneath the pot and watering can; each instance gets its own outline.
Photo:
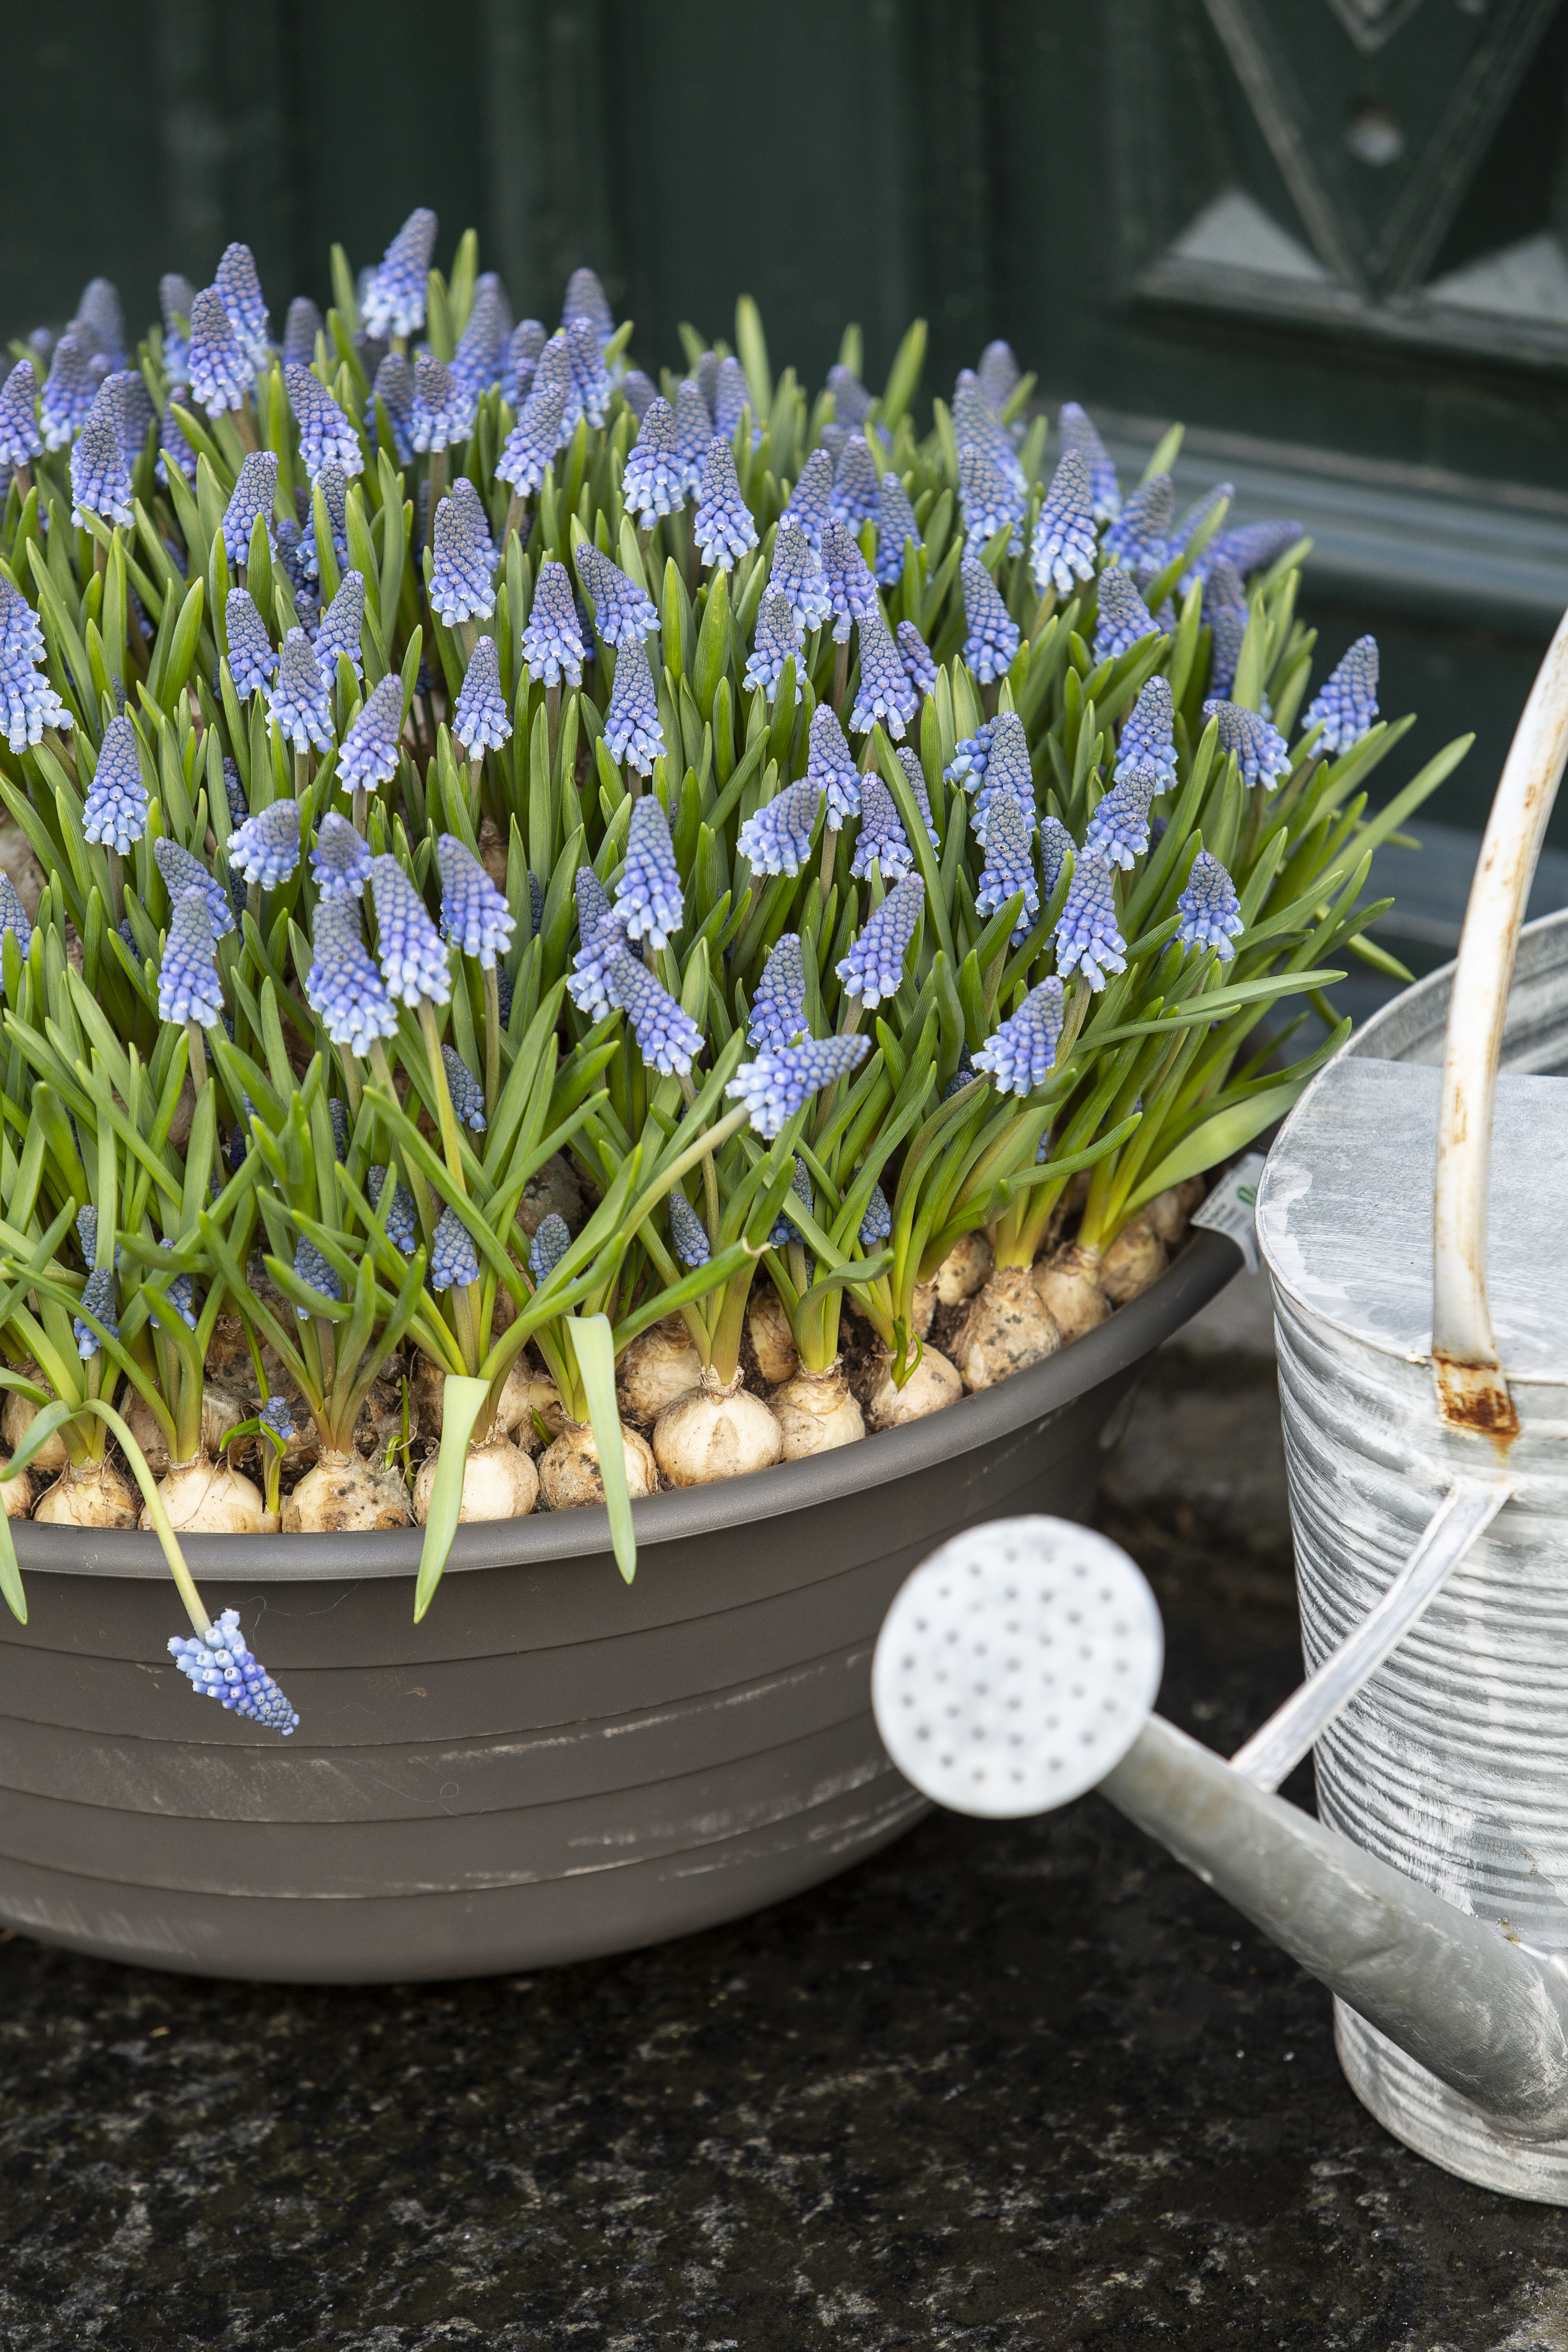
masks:
<instances>
[{"instance_id":1,"label":"dark speckled stone ground beneath the pot and watering can","mask_svg":"<svg viewBox=\"0 0 1568 2352\"><path fill-rule=\"evenodd\" d=\"M1105 1524L1234 1748L1300 1672L1267 1367L1159 1364ZM1389 2140L1328 1997L1093 1797L557 1976L5 1940L0 2183L5 2352L1568 2347L1563 2216Z\"/></svg>"}]
</instances>

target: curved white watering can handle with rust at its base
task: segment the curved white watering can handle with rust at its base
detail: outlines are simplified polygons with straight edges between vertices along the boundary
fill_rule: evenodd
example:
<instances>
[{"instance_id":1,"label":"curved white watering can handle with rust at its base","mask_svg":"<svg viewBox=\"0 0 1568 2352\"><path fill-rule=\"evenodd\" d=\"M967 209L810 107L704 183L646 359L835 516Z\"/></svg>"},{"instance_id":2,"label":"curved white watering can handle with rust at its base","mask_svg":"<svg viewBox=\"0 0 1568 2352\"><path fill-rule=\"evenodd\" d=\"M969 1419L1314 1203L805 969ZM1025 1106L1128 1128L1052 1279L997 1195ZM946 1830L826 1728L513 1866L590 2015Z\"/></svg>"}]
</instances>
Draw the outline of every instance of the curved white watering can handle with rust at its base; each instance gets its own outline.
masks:
<instances>
[{"instance_id":1,"label":"curved white watering can handle with rust at its base","mask_svg":"<svg viewBox=\"0 0 1568 2352\"><path fill-rule=\"evenodd\" d=\"M1432 1381L1453 1428L1519 1435L1486 1305L1486 1188L1502 1016L1535 858L1568 757L1568 614L1547 647L1502 764L1469 884L1448 997L1432 1202Z\"/></svg>"}]
</instances>

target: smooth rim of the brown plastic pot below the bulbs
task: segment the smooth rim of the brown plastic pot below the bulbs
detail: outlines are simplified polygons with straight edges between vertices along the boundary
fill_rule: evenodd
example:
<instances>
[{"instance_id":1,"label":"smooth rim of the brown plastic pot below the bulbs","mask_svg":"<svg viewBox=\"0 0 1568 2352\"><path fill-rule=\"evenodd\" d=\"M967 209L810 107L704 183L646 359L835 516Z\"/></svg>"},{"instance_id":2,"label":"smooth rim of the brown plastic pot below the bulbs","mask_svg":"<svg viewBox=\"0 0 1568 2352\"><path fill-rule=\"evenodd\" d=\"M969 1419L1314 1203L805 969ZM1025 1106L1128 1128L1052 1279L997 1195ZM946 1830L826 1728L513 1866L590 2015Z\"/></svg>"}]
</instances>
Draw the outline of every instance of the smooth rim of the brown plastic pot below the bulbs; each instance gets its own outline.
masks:
<instances>
[{"instance_id":1,"label":"smooth rim of the brown plastic pot below the bulbs","mask_svg":"<svg viewBox=\"0 0 1568 2352\"><path fill-rule=\"evenodd\" d=\"M748 1477L719 1479L712 1486L679 1486L670 1494L632 1503L637 1550L661 1543L684 1543L712 1536L755 1519L776 1519L795 1510L837 1503L867 1486L886 1486L912 1470L954 1461L973 1446L1009 1437L1030 1421L1072 1404L1086 1390L1114 1378L1171 1338L1199 1308L1208 1305L1241 1272L1241 1249L1222 1232L1192 1228L1180 1256L1128 1305L1086 1331L1072 1345L1016 1371L1011 1381L978 1395L959 1397L940 1414L910 1421L898 1430L879 1430L870 1446L837 1446L806 1461L752 1470ZM24 1571L54 1576L146 1576L167 1578L158 1536L134 1529L63 1529L35 1519L12 1522L16 1562ZM235 1557L233 1536L186 1536L181 1550L193 1576L261 1583L343 1583L357 1576L418 1573L418 1526L393 1526L364 1536L266 1536L244 1543ZM585 1510L531 1512L527 1519L484 1519L458 1526L447 1559L447 1576L475 1569L543 1566L552 1559L581 1559L609 1552L609 1512Z\"/></svg>"}]
</instances>

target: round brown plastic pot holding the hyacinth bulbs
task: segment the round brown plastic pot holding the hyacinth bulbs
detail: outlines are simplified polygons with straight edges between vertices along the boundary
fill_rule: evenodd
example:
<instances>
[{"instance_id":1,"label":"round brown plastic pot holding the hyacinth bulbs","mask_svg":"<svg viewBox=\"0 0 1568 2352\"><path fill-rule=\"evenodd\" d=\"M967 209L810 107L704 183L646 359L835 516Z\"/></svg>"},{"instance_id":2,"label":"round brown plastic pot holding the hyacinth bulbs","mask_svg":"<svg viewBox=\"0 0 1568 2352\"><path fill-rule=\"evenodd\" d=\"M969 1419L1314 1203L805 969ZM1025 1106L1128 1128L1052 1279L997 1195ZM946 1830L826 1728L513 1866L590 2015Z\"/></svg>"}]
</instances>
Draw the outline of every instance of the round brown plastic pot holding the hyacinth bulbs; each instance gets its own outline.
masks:
<instances>
[{"instance_id":1,"label":"round brown plastic pot holding the hyacinth bulbs","mask_svg":"<svg viewBox=\"0 0 1568 2352\"><path fill-rule=\"evenodd\" d=\"M202 1595L301 1712L197 1700L153 1536L16 1526L0 1609L0 1922L193 1976L489 1976L736 1919L926 1804L870 1710L882 1616L945 1536L1081 1517L1147 1355L1237 1272L1197 1232L1107 1324L1001 1388L816 1461L458 1529L414 1625L418 1534L195 1538Z\"/></svg>"}]
</instances>

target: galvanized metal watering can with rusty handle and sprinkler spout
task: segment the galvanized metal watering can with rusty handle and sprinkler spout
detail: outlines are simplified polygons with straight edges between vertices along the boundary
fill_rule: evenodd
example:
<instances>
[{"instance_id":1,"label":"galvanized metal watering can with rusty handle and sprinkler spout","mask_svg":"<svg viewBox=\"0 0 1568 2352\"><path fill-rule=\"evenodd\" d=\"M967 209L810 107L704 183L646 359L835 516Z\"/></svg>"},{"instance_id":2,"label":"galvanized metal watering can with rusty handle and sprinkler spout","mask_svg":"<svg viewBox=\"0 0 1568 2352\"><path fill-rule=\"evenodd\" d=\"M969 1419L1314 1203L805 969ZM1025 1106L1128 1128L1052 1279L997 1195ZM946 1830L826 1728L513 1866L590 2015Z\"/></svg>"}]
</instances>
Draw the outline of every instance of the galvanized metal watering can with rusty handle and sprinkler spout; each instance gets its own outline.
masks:
<instances>
[{"instance_id":1,"label":"galvanized metal watering can with rusty handle and sprinkler spout","mask_svg":"<svg viewBox=\"0 0 1568 2352\"><path fill-rule=\"evenodd\" d=\"M1526 934L1514 1007L1509 983L1566 753L1568 621L1453 974L1316 1077L1262 1178L1307 1684L1229 1762L1197 1745L1150 1712L1138 1569L1056 1519L943 1545L872 1672L929 1797L1001 1816L1098 1785L1335 1992L1340 2060L1389 2131L1549 2204L1568 2204L1568 1084L1530 1073L1568 1070L1568 915ZM1309 1748L1321 1820L1274 1795Z\"/></svg>"}]
</instances>

